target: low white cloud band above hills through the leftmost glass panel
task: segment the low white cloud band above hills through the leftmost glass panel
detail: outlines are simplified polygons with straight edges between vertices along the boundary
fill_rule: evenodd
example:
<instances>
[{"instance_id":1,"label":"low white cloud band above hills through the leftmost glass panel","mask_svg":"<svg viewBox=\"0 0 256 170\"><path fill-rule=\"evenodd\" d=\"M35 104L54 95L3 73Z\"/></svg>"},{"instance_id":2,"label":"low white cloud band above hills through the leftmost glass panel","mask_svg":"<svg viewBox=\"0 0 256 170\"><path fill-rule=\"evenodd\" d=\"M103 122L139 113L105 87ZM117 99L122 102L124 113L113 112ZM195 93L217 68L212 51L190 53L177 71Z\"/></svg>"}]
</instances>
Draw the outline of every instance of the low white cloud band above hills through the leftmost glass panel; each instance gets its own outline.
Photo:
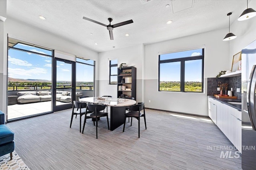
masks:
<instances>
[{"instance_id":1,"label":"low white cloud band above hills through the leftmost glass panel","mask_svg":"<svg viewBox=\"0 0 256 170\"><path fill-rule=\"evenodd\" d=\"M45 68L33 67L29 70L21 69L21 68L8 68L8 76L9 77L17 77L17 76L32 76L32 75L40 75L46 74L47 70Z\"/></svg>"}]
</instances>

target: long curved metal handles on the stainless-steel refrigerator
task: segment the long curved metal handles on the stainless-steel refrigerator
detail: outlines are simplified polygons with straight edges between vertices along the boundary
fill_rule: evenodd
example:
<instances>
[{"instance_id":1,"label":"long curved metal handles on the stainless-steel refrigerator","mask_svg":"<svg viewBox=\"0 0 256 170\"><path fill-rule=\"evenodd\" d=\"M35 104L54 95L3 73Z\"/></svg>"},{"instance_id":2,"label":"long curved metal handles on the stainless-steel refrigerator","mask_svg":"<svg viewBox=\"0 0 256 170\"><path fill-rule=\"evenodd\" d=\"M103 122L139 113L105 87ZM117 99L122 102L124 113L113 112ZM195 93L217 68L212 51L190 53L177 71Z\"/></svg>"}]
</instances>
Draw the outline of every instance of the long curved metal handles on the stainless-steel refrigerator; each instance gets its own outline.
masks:
<instances>
[{"instance_id":1,"label":"long curved metal handles on the stainless-steel refrigerator","mask_svg":"<svg viewBox=\"0 0 256 170\"><path fill-rule=\"evenodd\" d=\"M252 129L256 131L256 101L255 101L255 90L256 90L256 65L252 66L252 71L250 73L250 78L248 81L248 88L247 88L247 106L248 106L248 113L250 117L250 121L252 124Z\"/></svg>"}]
</instances>

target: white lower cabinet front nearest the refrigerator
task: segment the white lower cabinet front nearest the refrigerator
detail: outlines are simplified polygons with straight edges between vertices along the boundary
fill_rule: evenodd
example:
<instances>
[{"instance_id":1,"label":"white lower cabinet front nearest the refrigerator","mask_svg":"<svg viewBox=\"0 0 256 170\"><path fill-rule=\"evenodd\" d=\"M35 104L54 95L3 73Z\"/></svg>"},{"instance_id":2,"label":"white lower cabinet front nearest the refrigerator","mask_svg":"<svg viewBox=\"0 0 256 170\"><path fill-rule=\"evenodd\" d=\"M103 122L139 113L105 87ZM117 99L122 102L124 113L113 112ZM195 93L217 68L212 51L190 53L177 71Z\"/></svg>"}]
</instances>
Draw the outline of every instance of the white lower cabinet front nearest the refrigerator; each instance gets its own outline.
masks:
<instances>
[{"instance_id":1,"label":"white lower cabinet front nearest the refrigerator","mask_svg":"<svg viewBox=\"0 0 256 170\"><path fill-rule=\"evenodd\" d=\"M231 139L230 141L242 153L242 113L231 108Z\"/></svg>"}]
</instances>

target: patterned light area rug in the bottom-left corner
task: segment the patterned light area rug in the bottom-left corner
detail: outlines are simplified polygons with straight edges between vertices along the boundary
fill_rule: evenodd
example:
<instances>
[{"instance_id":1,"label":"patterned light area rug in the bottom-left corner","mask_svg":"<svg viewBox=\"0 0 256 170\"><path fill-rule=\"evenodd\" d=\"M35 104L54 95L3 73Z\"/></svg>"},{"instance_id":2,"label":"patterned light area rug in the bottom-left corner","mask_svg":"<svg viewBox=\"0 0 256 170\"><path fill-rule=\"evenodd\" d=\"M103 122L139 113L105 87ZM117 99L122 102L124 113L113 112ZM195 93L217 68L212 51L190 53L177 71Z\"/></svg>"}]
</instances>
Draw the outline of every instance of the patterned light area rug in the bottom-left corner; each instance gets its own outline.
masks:
<instances>
[{"instance_id":1,"label":"patterned light area rug in the bottom-left corner","mask_svg":"<svg viewBox=\"0 0 256 170\"><path fill-rule=\"evenodd\" d=\"M10 154L0 156L0 170L29 170L29 168L20 156L13 151L12 160L10 160Z\"/></svg>"}]
</instances>

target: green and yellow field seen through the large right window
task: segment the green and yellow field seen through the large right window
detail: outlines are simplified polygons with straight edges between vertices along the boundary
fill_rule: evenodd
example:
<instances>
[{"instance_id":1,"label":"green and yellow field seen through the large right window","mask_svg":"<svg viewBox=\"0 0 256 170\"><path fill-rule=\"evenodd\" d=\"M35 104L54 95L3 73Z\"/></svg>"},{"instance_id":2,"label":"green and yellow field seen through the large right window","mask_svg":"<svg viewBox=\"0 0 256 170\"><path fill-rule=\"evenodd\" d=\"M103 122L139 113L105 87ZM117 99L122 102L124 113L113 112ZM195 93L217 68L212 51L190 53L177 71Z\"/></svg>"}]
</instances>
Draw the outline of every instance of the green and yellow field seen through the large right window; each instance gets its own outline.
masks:
<instances>
[{"instance_id":1,"label":"green and yellow field seen through the large right window","mask_svg":"<svg viewBox=\"0 0 256 170\"><path fill-rule=\"evenodd\" d=\"M160 91L180 92L180 82L160 82ZM202 92L202 82L185 82L185 92Z\"/></svg>"}]
</instances>

